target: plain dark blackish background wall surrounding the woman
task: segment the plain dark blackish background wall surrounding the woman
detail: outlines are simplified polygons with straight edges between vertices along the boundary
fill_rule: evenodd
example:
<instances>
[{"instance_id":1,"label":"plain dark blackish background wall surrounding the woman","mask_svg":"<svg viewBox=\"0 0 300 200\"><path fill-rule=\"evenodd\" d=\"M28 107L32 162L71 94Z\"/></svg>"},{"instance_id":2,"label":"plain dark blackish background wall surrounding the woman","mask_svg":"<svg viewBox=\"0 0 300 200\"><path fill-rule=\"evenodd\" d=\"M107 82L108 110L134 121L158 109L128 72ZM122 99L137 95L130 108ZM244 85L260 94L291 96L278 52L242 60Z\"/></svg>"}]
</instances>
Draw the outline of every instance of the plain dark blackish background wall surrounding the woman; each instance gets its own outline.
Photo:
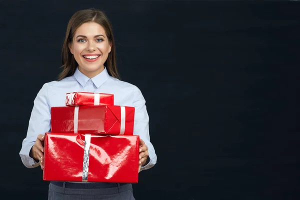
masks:
<instances>
[{"instance_id":1,"label":"plain dark blackish background wall surrounding the woman","mask_svg":"<svg viewBox=\"0 0 300 200\"><path fill-rule=\"evenodd\" d=\"M136 199L299 199L300 1L226 0L0 0L1 196L47 198L18 153L68 19L90 7L146 99L157 164Z\"/></svg>"}]
</instances>

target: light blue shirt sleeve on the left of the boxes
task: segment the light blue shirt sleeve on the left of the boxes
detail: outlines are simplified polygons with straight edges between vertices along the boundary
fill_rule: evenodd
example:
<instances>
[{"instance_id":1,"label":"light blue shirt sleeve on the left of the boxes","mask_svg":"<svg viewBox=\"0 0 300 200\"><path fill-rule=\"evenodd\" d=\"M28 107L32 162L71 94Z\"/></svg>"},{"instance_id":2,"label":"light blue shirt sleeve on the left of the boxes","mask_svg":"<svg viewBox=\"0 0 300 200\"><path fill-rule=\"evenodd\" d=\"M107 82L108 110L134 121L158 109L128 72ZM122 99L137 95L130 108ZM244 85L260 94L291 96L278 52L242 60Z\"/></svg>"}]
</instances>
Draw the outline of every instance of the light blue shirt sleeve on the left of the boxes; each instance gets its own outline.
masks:
<instances>
[{"instance_id":1,"label":"light blue shirt sleeve on the left of the boxes","mask_svg":"<svg viewBox=\"0 0 300 200\"><path fill-rule=\"evenodd\" d=\"M31 115L29 118L27 135L22 141L22 147L19 152L23 164L28 168L39 165L33 158L29 156L31 147L33 146L37 135L44 134L50 130L50 106L47 101L48 86L45 83L37 93L34 101Z\"/></svg>"}]
</instances>

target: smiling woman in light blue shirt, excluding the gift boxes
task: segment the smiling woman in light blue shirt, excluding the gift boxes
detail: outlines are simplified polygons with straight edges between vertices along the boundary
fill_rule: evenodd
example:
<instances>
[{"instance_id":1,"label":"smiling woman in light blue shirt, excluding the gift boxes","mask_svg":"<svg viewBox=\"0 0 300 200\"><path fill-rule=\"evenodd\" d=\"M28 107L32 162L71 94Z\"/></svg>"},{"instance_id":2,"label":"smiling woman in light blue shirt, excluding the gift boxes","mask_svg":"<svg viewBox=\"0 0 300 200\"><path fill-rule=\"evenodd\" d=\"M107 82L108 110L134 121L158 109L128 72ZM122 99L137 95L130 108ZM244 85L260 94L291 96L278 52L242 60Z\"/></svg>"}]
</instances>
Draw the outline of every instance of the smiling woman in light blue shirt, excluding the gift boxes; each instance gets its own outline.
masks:
<instances>
[{"instance_id":1,"label":"smiling woman in light blue shirt, excluding the gift boxes","mask_svg":"<svg viewBox=\"0 0 300 200\"><path fill-rule=\"evenodd\" d=\"M114 94L116 105L135 107L133 134L140 137L139 171L156 163L149 139L148 114L140 90L119 80L112 28L106 15L95 9L79 10L70 18L62 47L62 72L45 83L34 99L20 157L28 168L43 169L44 133L50 131L50 107L64 106L72 91ZM129 183L49 183L48 199L134 199Z\"/></svg>"}]
</instances>

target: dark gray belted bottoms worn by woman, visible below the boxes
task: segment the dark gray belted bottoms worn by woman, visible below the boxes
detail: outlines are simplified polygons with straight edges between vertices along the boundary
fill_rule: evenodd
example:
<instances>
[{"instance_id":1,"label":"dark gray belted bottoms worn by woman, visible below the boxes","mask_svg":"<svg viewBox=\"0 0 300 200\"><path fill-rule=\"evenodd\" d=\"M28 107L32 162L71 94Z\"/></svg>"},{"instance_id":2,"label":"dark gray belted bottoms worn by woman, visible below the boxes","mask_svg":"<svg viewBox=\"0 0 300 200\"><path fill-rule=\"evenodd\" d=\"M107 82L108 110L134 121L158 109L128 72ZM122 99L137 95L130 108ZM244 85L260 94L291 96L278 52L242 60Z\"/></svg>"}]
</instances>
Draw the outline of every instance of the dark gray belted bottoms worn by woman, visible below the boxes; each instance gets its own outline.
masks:
<instances>
[{"instance_id":1,"label":"dark gray belted bottoms worn by woman, visible below the boxes","mask_svg":"<svg viewBox=\"0 0 300 200\"><path fill-rule=\"evenodd\" d=\"M74 185L78 184L77 188ZM132 193L131 184L108 183L113 187L92 188L85 184L97 183L68 183L63 182L62 186L49 183L48 200L77 200L77 199L105 199L105 200L135 200ZM106 183L107 184L107 183Z\"/></svg>"}]
</instances>

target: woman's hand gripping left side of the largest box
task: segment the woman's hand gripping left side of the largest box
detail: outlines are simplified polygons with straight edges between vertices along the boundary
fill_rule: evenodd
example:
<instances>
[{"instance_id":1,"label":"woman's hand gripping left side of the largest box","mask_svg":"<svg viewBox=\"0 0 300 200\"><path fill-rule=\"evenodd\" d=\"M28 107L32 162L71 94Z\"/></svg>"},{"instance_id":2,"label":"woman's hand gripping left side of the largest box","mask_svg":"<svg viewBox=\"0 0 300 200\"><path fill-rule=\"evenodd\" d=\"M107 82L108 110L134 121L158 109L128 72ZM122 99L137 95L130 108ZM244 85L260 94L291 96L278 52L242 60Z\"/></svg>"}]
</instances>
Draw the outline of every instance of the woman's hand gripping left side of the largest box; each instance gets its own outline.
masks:
<instances>
[{"instance_id":1,"label":"woman's hand gripping left side of the largest box","mask_svg":"<svg viewBox=\"0 0 300 200\"><path fill-rule=\"evenodd\" d=\"M35 162L39 161L41 170L43 169L44 139L45 139L45 137L43 134L37 135L35 143L29 152L29 156L32 157L35 160Z\"/></svg>"}]
</instances>

